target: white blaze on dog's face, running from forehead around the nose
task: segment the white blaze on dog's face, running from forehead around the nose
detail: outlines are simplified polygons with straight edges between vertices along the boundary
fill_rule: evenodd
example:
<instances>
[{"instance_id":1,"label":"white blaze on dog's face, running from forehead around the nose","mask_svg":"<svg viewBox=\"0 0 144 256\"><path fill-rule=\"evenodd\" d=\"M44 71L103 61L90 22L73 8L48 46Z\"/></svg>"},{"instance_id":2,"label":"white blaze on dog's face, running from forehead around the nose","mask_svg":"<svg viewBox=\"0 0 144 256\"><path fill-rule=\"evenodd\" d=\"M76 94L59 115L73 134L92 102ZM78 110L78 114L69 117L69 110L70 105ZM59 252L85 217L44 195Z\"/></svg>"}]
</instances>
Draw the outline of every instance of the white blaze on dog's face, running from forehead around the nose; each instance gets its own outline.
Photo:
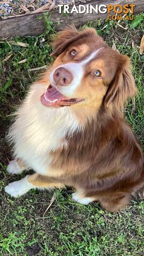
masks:
<instances>
[{"instance_id":1,"label":"white blaze on dog's face, running from forehead around the nose","mask_svg":"<svg viewBox=\"0 0 144 256\"><path fill-rule=\"evenodd\" d=\"M96 55L98 54L98 52L103 48L104 47L99 48L98 50L91 53L90 56L87 57L85 60L82 60L78 63L71 62L71 63L63 64L63 65L60 65L60 66L57 67L57 68L65 68L71 74L73 74L73 81L68 86L58 86L58 90L62 94L66 95L67 97L70 97L71 94L73 94L76 87L81 84L81 81L82 81L82 78L83 78L83 75L84 75L84 66L87 63L89 63L91 60L93 60L96 57ZM57 68L55 68L50 74L50 83L51 83L51 85L55 85L55 82L54 82L54 79L53 79L53 74L54 74L54 72Z\"/></svg>"}]
</instances>

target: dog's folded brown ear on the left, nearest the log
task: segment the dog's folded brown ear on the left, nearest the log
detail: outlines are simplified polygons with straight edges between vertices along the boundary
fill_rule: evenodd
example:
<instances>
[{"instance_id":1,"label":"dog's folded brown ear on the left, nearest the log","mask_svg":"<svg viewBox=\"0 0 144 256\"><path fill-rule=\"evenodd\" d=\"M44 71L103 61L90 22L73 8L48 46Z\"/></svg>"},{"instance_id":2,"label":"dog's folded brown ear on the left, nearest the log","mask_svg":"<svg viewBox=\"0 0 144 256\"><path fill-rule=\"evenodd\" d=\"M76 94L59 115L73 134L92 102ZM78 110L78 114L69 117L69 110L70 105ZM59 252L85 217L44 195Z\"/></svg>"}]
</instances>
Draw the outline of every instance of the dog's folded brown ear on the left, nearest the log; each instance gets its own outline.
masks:
<instances>
[{"instance_id":1,"label":"dog's folded brown ear on the left, nearest the log","mask_svg":"<svg viewBox=\"0 0 144 256\"><path fill-rule=\"evenodd\" d=\"M75 26L70 26L58 33L54 38L54 42L52 43L54 51L52 52L51 56L58 57L58 55L65 51L66 47L72 43L77 36L78 30L75 28Z\"/></svg>"}]
</instances>

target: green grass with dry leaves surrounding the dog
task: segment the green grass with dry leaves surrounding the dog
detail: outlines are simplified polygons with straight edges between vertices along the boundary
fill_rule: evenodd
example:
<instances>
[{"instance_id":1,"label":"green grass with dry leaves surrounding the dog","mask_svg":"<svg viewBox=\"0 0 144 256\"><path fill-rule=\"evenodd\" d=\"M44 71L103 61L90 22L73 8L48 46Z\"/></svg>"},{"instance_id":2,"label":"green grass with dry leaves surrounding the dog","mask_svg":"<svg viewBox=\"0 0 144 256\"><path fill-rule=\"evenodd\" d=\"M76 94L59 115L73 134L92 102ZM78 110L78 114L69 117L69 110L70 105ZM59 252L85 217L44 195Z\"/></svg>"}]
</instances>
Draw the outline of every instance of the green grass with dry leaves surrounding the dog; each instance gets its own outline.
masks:
<instances>
[{"instance_id":1,"label":"green grass with dry leaves surrounding the dog","mask_svg":"<svg viewBox=\"0 0 144 256\"><path fill-rule=\"evenodd\" d=\"M103 27L107 27L102 29ZM125 27L126 22L121 22ZM129 23L127 22L127 25ZM139 89L135 107L129 101L125 116L144 146L144 110L142 84L143 55L138 46L142 37L143 23L134 29L124 30L115 22L100 25L89 23L117 50L129 55L132 72ZM109 213L101 209L99 203L83 206L71 200L71 189L55 190L56 199L45 213L53 196L53 191L31 190L20 198L12 198L4 193L4 186L23 175L6 173L6 165L11 159L11 148L5 134L12 122L10 116L25 97L29 85L35 81L40 71L28 69L49 65L51 38L55 31L51 23L46 23L46 33L39 37L14 38L0 43L1 59L12 53L6 62L0 62L1 90L1 171L0 171L0 255L46 255L46 256L142 256L144 255L144 225L142 201L132 201L131 206L119 213ZM132 43L133 41L133 43ZM27 47L15 42L28 44ZM18 63L27 59L25 63ZM44 216L43 216L44 215Z\"/></svg>"}]
</instances>

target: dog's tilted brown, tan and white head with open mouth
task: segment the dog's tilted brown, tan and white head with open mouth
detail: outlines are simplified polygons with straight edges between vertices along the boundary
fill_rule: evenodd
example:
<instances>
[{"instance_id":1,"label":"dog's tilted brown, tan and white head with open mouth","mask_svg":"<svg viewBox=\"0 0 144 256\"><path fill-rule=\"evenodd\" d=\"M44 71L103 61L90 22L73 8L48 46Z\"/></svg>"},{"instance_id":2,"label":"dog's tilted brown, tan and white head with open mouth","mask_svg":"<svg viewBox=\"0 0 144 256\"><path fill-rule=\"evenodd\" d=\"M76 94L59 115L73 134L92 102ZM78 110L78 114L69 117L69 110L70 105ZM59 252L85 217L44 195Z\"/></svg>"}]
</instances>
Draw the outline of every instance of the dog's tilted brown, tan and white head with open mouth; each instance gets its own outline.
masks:
<instances>
[{"instance_id":1,"label":"dog's tilted brown, tan and white head with open mouth","mask_svg":"<svg viewBox=\"0 0 144 256\"><path fill-rule=\"evenodd\" d=\"M53 46L50 86L41 97L45 106L119 109L137 92L129 58L111 49L95 29L70 27Z\"/></svg>"}]
</instances>

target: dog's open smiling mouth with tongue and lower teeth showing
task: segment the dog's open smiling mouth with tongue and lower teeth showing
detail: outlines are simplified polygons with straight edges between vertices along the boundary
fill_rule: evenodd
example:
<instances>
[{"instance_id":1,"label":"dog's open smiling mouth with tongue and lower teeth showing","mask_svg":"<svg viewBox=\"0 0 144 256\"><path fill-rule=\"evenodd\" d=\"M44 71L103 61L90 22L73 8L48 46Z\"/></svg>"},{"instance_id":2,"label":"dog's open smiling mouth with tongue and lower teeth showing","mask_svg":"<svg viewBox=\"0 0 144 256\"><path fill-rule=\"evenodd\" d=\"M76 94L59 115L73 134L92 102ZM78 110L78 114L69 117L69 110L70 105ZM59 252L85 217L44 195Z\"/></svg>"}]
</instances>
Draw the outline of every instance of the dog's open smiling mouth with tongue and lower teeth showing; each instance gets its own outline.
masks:
<instances>
[{"instance_id":1,"label":"dog's open smiling mouth with tongue and lower teeth showing","mask_svg":"<svg viewBox=\"0 0 144 256\"><path fill-rule=\"evenodd\" d=\"M49 85L45 93L41 96L41 101L46 107L63 107L71 106L83 101L82 98L69 98L61 94L55 87Z\"/></svg>"}]
</instances>

